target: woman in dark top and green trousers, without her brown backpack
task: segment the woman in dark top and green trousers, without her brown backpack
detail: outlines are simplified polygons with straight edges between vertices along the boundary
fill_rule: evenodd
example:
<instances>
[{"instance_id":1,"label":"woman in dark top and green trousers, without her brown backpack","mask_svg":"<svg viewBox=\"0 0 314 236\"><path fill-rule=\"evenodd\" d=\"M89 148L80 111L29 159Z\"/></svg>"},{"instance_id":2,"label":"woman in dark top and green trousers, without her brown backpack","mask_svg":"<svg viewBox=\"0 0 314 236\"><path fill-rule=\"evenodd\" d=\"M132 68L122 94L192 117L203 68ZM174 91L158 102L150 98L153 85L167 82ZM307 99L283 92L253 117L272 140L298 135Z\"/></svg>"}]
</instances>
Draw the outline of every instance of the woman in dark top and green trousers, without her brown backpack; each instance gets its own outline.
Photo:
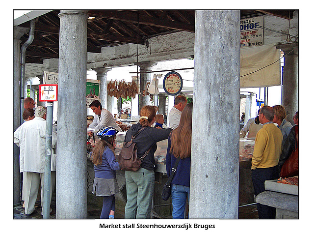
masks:
<instances>
[{"instance_id":1,"label":"woman in dark top and green trousers, without her brown backpack","mask_svg":"<svg viewBox=\"0 0 314 236\"><path fill-rule=\"evenodd\" d=\"M135 172L126 171L127 203L124 216L126 219L150 218L155 184L155 157L157 142L168 138L172 129L157 129L151 127L155 122L156 109L145 106L140 111L138 124L133 124L127 131L124 142L133 140L137 146L137 156L142 157L150 148L147 156L142 160L141 168ZM144 127L144 129L142 129ZM142 130L141 130L142 129Z\"/></svg>"}]
</instances>

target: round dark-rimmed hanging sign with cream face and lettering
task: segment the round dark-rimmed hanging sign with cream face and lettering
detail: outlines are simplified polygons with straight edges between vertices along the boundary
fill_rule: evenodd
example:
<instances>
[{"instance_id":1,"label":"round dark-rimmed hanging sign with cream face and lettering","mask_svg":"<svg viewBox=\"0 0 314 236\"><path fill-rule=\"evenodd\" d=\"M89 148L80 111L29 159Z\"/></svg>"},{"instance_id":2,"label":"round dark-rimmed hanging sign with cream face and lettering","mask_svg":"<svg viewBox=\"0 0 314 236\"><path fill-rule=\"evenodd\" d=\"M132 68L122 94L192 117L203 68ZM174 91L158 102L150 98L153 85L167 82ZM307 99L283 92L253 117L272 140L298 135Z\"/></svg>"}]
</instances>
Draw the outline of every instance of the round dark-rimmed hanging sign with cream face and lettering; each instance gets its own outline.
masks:
<instances>
[{"instance_id":1,"label":"round dark-rimmed hanging sign with cream face and lettering","mask_svg":"<svg viewBox=\"0 0 314 236\"><path fill-rule=\"evenodd\" d=\"M171 71L163 78L163 89L169 95L177 95L183 87L183 80L179 73Z\"/></svg>"}]
</instances>

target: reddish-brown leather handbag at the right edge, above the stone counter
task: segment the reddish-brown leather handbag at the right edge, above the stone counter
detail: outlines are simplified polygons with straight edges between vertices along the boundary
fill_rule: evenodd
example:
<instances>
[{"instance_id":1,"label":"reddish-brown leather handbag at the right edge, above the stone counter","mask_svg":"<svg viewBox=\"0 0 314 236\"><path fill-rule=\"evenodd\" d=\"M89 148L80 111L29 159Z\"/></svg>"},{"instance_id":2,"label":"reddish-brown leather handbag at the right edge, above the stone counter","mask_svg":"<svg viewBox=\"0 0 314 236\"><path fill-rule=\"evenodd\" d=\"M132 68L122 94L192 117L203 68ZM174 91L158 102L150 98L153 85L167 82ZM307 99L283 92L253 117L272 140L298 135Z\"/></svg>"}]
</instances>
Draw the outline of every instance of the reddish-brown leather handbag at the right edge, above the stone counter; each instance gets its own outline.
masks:
<instances>
[{"instance_id":1,"label":"reddish-brown leather handbag at the right edge, above the stone counter","mask_svg":"<svg viewBox=\"0 0 314 236\"><path fill-rule=\"evenodd\" d=\"M285 161L280 171L280 177L294 177L299 175L299 127L295 127L295 148Z\"/></svg>"}]
</instances>

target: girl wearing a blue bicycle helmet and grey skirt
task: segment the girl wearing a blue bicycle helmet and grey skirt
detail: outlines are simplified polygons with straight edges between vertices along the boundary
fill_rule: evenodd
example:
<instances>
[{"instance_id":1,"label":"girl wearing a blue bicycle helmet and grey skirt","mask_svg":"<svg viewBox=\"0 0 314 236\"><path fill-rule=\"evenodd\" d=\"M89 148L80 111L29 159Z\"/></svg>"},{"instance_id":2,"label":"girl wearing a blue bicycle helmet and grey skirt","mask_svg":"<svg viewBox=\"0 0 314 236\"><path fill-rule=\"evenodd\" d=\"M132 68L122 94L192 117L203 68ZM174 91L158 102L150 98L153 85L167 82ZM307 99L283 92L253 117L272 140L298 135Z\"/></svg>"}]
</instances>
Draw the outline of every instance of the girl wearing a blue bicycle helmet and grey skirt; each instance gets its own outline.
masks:
<instances>
[{"instance_id":1,"label":"girl wearing a blue bicycle helmet and grey skirt","mask_svg":"<svg viewBox=\"0 0 314 236\"><path fill-rule=\"evenodd\" d=\"M116 170L120 170L116 162L114 149L115 138L118 130L113 127L105 127L97 132L101 139L93 148L91 161L94 164L95 178L93 194L103 197L103 208L100 218L113 219L115 212L115 193L119 192L116 179Z\"/></svg>"}]
</instances>

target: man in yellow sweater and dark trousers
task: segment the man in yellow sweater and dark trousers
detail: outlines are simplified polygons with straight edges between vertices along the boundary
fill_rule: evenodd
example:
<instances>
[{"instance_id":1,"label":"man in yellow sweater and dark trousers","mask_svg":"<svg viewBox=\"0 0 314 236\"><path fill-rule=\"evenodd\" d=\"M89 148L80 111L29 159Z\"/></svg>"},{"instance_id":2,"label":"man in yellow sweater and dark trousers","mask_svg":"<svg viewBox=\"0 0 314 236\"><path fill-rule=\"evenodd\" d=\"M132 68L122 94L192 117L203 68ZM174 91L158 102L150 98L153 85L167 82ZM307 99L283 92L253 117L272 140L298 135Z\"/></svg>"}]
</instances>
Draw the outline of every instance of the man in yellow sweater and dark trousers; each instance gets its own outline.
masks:
<instances>
[{"instance_id":1,"label":"man in yellow sweater and dark trousers","mask_svg":"<svg viewBox=\"0 0 314 236\"><path fill-rule=\"evenodd\" d=\"M252 181L255 196L265 191L264 182L268 179L278 179L278 161L281 154L283 135L273 124L274 109L262 107L259 113L262 129L256 135L252 157ZM276 208L257 204L260 219L275 219Z\"/></svg>"}]
</instances>

